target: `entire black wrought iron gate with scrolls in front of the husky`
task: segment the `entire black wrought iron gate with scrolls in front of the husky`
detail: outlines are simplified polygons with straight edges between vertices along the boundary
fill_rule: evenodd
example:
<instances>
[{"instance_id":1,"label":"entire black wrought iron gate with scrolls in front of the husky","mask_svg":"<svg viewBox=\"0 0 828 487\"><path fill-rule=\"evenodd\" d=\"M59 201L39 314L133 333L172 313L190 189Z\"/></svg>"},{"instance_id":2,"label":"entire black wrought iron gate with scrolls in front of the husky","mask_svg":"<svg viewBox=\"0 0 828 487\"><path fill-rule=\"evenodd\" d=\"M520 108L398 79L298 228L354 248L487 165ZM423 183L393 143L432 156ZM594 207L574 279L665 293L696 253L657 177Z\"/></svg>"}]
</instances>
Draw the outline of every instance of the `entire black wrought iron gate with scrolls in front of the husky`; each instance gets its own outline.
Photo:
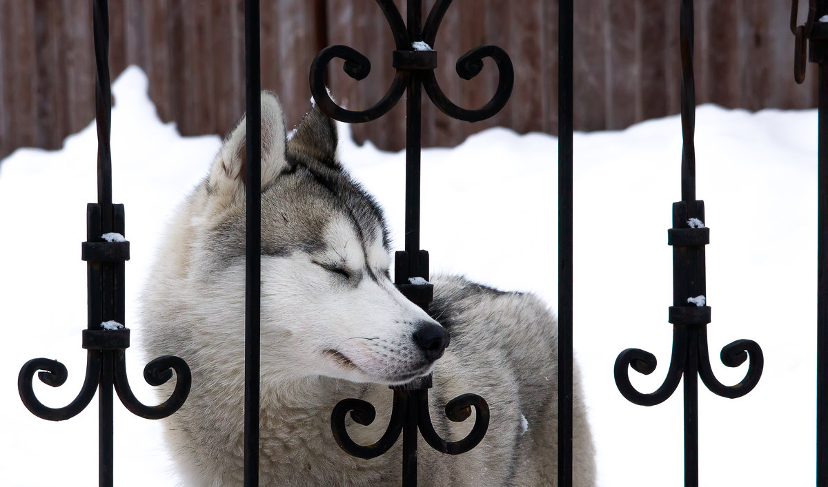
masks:
<instances>
[{"instance_id":1,"label":"entire black wrought iron gate with scrolls in front of the husky","mask_svg":"<svg viewBox=\"0 0 828 487\"><path fill-rule=\"evenodd\" d=\"M661 403L672 395L679 381L684 379L685 403L685 485L698 485L698 424L697 375L715 394L737 398L748 394L758 383L763 369L763 355L757 343L739 340L725 346L721 352L724 365L738 366L750 360L744 380L734 386L725 386L716 380L710 367L706 325L710 322L710 307L705 303L705 245L710 231L704 225L705 208L696 200L695 150L695 93L692 69L693 2L681 1L681 119L684 148L681 165L681 201L673 203L672 228L668 230L668 245L674 255L674 303L669 308L669 322L673 324L672 360L667 380L652 394L642 394L633 388L628 378L628 367L643 374L656 368L655 356L647 351L628 349L621 352L615 363L615 380L625 398L641 405ZM407 193L405 251L397 252L395 282L402 293L422 308L431 301L431 284L416 280L428 279L428 254L419 248L419 171L420 171L420 108L421 89L432 102L450 117L475 122L491 117L506 103L513 85L513 68L503 50L486 45L470 50L457 62L457 73L465 79L479 73L484 58L498 65L498 88L493 98L478 110L467 110L450 102L440 90L433 73L436 51L433 50L440 20L450 7L450 0L438 0L422 21L421 0L408 0L407 21L391 0L377 0L391 26L396 50L392 52L397 75L388 93L373 107L355 112L337 106L325 91L325 68L330 60L345 60L344 70L354 79L363 79L370 69L368 60L359 52L343 45L322 50L310 70L310 86L317 103L331 117L346 122L364 122L382 116L402 97L407 95ZM818 242L818 383L817 383L817 485L828 485L828 0L810 0L806 23L797 26L797 0L792 2L792 32L796 35L797 62L795 77L801 82L808 60L819 69L819 242ZM572 107L573 107L573 1L559 3L559 485L572 483ZM245 2L246 69L247 69L247 298L245 348L245 485L258 485L258 357L259 343L259 281L260 281L260 113L259 113L259 21L258 1ZM143 418L163 418L174 413L184 403L190 389L190 372L183 360L164 356L152 360L145 369L145 379L153 385L170 380L176 373L176 389L165 403L147 407L132 394L125 372L125 351L129 346L129 330L124 324L123 266L129 258L125 240L123 205L112 203L111 161L108 149L111 94L108 75L108 8L106 0L94 0L95 55L98 66L96 107L99 135L99 198L88 208L88 236L83 244L84 260L88 262L89 322L83 332L83 346L88 350L86 380L77 399L65 408L46 408L32 389L32 380L39 379L51 386L63 384L67 371L55 360L34 359L23 366L18 389L26 407L41 418L60 421L83 410L99 391L99 483L113 483L113 389L124 405ZM102 329L102 324L106 328ZM474 448L488 426L488 406L484 398L465 394L450 401L447 412L450 419L469 418L471 408L476 410L475 425L469 436L460 442L445 442L437 436L425 408L431 378L417 380L407 388L394 388L392 423L383 437L371 446L359 446L350 440L344 430L344 418L351 413L357 423L373 420L373 406L356 399L339 403L331 416L331 427L336 441L352 455L368 458L383 454L399 434L403 435L402 470L405 485L416 485L416 442L420 431L426 442L448 454L460 454Z\"/></svg>"}]
</instances>

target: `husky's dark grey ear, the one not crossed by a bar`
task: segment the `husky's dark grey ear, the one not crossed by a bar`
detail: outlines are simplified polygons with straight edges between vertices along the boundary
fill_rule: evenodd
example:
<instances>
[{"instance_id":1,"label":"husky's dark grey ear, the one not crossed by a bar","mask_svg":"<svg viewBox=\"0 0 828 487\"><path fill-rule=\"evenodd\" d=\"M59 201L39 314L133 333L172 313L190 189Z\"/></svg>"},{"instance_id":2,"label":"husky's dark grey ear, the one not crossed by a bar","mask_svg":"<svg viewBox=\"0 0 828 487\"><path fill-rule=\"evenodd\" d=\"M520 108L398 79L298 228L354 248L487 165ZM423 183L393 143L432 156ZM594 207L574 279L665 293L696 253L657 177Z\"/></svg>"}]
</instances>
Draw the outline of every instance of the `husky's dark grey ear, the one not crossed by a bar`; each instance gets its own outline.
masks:
<instances>
[{"instance_id":1,"label":"husky's dark grey ear, the one not crossed by a bar","mask_svg":"<svg viewBox=\"0 0 828 487\"><path fill-rule=\"evenodd\" d=\"M333 169L339 169L336 161L336 124L314 104L302 117L290 141L287 154L298 161L315 160Z\"/></svg>"}]
</instances>

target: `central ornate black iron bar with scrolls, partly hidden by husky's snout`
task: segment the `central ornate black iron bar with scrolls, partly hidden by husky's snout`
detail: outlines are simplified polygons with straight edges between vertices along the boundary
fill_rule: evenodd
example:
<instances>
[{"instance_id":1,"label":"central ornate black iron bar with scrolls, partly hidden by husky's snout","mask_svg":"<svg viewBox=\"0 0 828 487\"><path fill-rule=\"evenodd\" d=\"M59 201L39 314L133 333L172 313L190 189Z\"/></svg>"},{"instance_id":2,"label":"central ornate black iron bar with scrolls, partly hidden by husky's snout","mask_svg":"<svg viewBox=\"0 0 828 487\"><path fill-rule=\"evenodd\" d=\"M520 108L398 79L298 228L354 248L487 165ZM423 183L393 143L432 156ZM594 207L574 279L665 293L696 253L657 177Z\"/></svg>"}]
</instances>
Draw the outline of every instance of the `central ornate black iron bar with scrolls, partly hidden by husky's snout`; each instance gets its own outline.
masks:
<instances>
[{"instance_id":1,"label":"central ornate black iron bar with scrolls, partly hidden by husky's snout","mask_svg":"<svg viewBox=\"0 0 828 487\"><path fill-rule=\"evenodd\" d=\"M477 109L466 109L452 103L440 89L434 69L437 53L433 50L437 29L451 0L438 0L431 8L421 29L421 0L409 0L408 25L403 21L392 0L377 0L389 26L396 50L392 51L392 67L397 73L391 86L372 107L366 110L348 110L337 105L325 87L325 72L335 58L344 60L344 72L356 80L364 79L371 70L367 57L346 45L332 45L320 50L310 65L310 93L315 103L329 117L341 122L369 122L382 117L408 92L407 100L407 180L406 180L406 251L397 251L395 283L397 289L424 310L433 298L432 284L410 284L409 279L428 279L427 252L419 249L419 158L420 158L420 103L424 88L432 103L449 117L465 122L479 122L492 117L507 103L514 85L514 69L508 55L498 46L483 45L460 56L456 72L463 79L472 79L483 69L485 58L498 66L498 87L493 98ZM423 45L424 43L425 45ZM413 128L412 128L413 125ZM413 183L409 174L415 174ZM412 183L410 186L409 183ZM411 198L411 200L409 199ZM410 206L411 205L411 206ZM412 209L413 208L413 209ZM409 217L411 215L415 217ZM475 411L474 426L465 438L446 442L437 434L428 411L428 389L431 375L413 380L409 384L394 386L393 405L388 428L377 442L363 446L354 442L345 428L348 413L355 423L368 426L376 418L376 409L361 399L344 399L336 404L330 417L331 431L339 446L352 456L374 458L388 451L403 437L403 485L416 485L416 432L419 430L426 442L437 451L460 455L473 449L483 440L489 427L489 405L477 394L462 394L449 401L445 415L450 421L460 423Z\"/></svg>"}]
</instances>

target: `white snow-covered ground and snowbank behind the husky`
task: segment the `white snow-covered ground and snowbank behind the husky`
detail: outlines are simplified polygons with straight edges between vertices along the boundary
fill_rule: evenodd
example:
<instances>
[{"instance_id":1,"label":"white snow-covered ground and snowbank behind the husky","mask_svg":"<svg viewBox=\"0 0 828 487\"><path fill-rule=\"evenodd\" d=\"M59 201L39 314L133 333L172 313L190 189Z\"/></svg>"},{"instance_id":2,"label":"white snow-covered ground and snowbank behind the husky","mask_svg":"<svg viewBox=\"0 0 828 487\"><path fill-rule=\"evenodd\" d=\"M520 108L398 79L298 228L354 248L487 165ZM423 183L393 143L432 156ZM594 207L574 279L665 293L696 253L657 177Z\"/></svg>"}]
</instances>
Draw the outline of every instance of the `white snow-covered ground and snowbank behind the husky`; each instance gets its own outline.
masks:
<instances>
[{"instance_id":1,"label":"white snow-covered ground and snowbank behind the husky","mask_svg":"<svg viewBox=\"0 0 828 487\"><path fill-rule=\"evenodd\" d=\"M794 89L794 88L792 88ZM128 69L113 87L114 201L125 203L131 384L143 383L135 311L170 208L205 174L219 137L181 137L162 124L147 79ZM284 95L283 95L284 96ZM296 121L288 121L288 123ZM404 155L355 146L341 159L385 208L402 246ZM62 361L69 380L36 381L51 406L80 389L86 326L85 204L95 199L94 124L58 151L22 149L0 165L0 484L94 485L97 402L62 423L35 418L17 397L26 360ZM747 365L718 357L738 338L758 341L762 380L742 399L700 389L700 485L813 485L816 401L816 112L758 113L703 106L696 122L698 196L706 203L710 357L734 384ZM532 290L554 307L557 140L490 129L455 149L423 151L422 247L432 270L460 272L502 289ZM650 391L669 363L672 326L671 204L680 198L678 117L625 131L575 135L575 354L598 446L600 485L682 483L681 387L643 408L615 388L619 352L654 353ZM116 402L115 484L175 485L160 423ZM531 424L529 427L532 427ZM332 446L333 447L333 446Z\"/></svg>"}]
</instances>

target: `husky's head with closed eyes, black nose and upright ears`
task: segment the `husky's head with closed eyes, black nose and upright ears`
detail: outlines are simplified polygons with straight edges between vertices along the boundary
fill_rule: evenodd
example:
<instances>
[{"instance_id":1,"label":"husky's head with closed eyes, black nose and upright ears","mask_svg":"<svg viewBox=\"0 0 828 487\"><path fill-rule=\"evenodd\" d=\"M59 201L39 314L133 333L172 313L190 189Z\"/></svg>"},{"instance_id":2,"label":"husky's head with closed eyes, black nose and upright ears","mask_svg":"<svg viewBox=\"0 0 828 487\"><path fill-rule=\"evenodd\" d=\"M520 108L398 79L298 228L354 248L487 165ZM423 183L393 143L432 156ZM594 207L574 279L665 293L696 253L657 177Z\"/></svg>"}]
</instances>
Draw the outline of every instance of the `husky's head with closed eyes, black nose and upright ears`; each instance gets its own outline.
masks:
<instances>
[{"instance_id":1,"label":"husky's head with closed eyes, black nose and upright ears","mask_svg":"<svg viewBox=\"0 0 828 487\"><path fill-rule=\"evenodd\" d=\"M216 295L205 298L230 297L237 310L245 138L242 119L191 222L200 280ZM277 98L262 93L262 380L270 369L402 384L431 371L448 333L392 284L383 213L339 165L336 146L335 123L318 107L288 141Z\"/></svg>"}]
</instances>

